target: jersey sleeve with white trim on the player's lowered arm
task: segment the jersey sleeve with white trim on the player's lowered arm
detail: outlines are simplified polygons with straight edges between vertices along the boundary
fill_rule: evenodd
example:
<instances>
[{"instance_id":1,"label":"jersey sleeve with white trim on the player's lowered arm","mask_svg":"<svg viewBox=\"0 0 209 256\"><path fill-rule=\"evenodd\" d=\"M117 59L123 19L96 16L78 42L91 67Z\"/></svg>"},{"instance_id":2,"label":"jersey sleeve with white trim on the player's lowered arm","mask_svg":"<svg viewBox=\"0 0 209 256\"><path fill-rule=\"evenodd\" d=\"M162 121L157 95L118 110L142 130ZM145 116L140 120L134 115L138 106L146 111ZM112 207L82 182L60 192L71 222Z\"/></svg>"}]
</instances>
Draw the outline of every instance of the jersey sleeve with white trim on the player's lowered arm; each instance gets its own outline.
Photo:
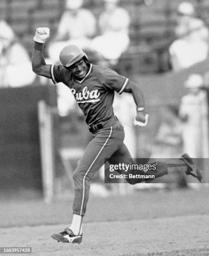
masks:
<instances>
[{"instance_id":1,"label":"jersey sleeve with white trim on the player's lowered arm","mask_svg":"<svg viewBox=\"0 0 209 256\"><path fill-rule=\"evenodd\" d=\"M103 85L107 90L114 90L117 93L122 94L128 83L128 78L117 74L117 72L111 69L108 69L105 74Z\"/></svg>"}]
</instances>

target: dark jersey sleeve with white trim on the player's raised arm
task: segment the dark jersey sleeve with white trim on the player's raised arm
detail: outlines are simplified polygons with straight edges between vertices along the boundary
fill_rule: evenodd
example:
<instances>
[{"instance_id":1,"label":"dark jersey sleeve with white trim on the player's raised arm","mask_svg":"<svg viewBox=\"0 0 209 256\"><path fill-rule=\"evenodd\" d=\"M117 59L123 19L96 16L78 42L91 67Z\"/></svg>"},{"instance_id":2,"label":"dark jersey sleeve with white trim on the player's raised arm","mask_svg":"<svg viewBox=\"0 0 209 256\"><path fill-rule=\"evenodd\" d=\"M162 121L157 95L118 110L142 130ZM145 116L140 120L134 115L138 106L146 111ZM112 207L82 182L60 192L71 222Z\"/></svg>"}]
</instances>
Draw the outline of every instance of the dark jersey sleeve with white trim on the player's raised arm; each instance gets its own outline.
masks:
<instances>
[{"instance_id":1,"label":"dark jersey sleeve with white trim on the player's raised arm","mask_svg":"<svg viewBox=\"0 0 209 256\"><path fill-rule=\"evenodd\" d=\"M70 77L69 71L62 65L51 65L50 74L54 84L63 82L67 85L67 79Z\"/></svg>"}]
</instances>

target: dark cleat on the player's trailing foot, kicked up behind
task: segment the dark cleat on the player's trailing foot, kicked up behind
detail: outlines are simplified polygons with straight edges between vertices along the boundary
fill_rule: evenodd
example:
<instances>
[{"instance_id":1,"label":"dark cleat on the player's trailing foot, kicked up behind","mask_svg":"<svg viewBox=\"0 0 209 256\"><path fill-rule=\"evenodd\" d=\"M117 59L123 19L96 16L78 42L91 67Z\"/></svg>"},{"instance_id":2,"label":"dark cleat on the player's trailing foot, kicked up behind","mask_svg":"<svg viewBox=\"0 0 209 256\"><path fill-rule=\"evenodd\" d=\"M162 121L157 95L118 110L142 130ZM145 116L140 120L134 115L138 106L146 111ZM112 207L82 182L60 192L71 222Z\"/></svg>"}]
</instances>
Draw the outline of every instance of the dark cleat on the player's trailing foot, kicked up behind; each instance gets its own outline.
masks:
<instances>
[{"instance_id":1,"label":"dark cleat on the player's trailing foot, kicked up behind","mask_svg":"<svg viewBox=\"0 0 209 256\"><path fill-rule=\"evenodd\" d=\"M185 164L187 164L187 175L192 175L193 177L197 178L199 182L204 183L202 171L197 168L197 166L192 161L192 158L187 154L183 154L181 156L181 159L184 161ZM193 173L192 173L193 172ZM194 174L196 172L196 175Z\"/></svg>"}]
</instances>

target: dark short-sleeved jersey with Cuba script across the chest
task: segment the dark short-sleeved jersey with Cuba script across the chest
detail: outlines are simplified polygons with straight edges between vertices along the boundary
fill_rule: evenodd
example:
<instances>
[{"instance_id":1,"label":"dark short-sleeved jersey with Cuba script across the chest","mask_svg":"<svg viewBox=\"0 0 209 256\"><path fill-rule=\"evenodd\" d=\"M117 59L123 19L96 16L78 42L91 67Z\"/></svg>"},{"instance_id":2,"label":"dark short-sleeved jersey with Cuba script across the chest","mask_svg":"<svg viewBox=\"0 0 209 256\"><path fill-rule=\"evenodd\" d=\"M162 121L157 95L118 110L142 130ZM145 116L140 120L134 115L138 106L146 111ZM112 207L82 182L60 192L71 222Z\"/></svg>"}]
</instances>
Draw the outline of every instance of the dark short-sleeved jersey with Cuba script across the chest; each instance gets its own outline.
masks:
<instances>
[{"instance_id":1,"label":"dark short-sleeved jersey with Cuba script across the chest","mask_svg":"<svg viewBox=\"0 0 209 256\"><path fill-rule=\"evenodd\" d=\"M121 94L129 79L120 76L112 69L87 65L90 65L90 69L80 81L62 65L52 65L50 73L55 84L63 82L70 88L85 115L87 125L90 126L114 116L112 108L114 91Z\"/></svg>"}]
</instances>

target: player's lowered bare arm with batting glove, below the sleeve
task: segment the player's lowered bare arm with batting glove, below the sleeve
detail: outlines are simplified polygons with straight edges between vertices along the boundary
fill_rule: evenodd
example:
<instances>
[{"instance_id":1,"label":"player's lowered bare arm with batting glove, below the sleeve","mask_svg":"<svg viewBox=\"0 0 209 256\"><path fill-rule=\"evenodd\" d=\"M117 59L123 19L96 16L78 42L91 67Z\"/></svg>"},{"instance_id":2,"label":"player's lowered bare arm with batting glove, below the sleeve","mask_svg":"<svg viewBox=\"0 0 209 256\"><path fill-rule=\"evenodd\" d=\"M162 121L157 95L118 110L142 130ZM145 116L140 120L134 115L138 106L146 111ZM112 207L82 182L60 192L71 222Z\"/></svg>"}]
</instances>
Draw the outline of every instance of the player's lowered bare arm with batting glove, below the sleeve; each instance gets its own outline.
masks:
<instances>
[{"instance_id":1,"label":"player's lowered bare arm with batting glove, below the sleeve","mask_svg":"<svg viewBox=\"0 0 209 256\"><path fill-rule=\"evenodd\" d=\"M134 119L134 125L139 127L146 126L149 115L146 114L144 94L142 89L138 84L129 81L123 91L129 92L133 95L134 102L137 106L137 115Z\"/></svg>"}]
</instances>

